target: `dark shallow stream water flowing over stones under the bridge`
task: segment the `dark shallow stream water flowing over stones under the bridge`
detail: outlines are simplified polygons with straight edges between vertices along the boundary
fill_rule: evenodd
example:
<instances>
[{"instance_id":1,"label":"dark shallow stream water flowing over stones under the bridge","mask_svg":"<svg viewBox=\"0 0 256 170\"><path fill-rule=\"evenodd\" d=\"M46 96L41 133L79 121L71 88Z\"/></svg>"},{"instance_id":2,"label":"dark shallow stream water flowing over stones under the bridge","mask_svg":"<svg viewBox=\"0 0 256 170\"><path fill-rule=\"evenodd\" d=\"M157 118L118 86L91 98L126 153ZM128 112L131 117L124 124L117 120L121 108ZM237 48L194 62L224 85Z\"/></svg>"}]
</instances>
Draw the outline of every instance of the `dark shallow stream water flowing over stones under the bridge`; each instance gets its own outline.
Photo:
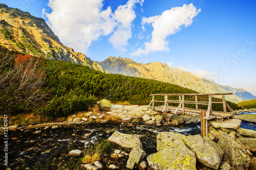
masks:
<instances>
[{"instance_id":1,"label":"dark shallow stream water flowing over stones under the bridge","mask_svg":"<svg viewBox=\"0 0 256 170\"><path fill-rule=\"evenodd\" d=\"M127 125L132 124L134 127ZM253 126L252 126L253 125ZM255 123L242 122L241 128L256 130ZM41 130L39 134L35 132ZM159 132L178 132L184 135L200 134L200 123L184 124L179 127L173 126L146 126L139 119L133 119L132 123L89 123L85 125L69 125L57 129L37 128L30 130L16 130L8 133L8 167L13 169L74 169L79 166L81 156L67 156L72 150L83 150L90 143L96 141L106 142L115 131L126 134L139 134L145 137L141 139L143 150L147 155L156 153L156 135ZM0 139L4 143L4 138ZM105 145L106 146L106 145ZM124 150L116 144L111 144L109 150L104 150L100 162L103 169L113 163L111 162L111 149ZM108 148L107 147L107 148ZM1 152L4 144L0 145ZM3 153L3 152L2 152ZM119 159L113 164L125 169L127 158ZM3 154L0 157L0 169L6 169L3 165ZM102 161L103 160L103 161Z\"/></svg>"}]
</instances>

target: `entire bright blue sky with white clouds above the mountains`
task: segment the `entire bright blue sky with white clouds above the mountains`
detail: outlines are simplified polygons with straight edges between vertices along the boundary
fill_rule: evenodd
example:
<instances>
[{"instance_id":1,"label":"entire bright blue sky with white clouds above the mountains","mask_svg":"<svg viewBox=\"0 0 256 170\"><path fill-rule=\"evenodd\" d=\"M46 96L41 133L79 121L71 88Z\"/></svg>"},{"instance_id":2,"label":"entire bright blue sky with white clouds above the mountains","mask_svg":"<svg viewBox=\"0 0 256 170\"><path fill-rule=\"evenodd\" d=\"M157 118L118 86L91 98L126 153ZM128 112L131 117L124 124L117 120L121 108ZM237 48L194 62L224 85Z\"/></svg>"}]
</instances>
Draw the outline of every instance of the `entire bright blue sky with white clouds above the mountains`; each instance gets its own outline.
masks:
<instances>
[{"instance_id":1,"label":"entire bright blue sky with white clouds above the mountains","mask_svg":"<svg viewBox=\"0 0 256 170\"><path fill-rule=\"evenodd\" d=\"M256 95L256 2L4 0L95 61L160 61Z\"/></svg>"}]
</instances>

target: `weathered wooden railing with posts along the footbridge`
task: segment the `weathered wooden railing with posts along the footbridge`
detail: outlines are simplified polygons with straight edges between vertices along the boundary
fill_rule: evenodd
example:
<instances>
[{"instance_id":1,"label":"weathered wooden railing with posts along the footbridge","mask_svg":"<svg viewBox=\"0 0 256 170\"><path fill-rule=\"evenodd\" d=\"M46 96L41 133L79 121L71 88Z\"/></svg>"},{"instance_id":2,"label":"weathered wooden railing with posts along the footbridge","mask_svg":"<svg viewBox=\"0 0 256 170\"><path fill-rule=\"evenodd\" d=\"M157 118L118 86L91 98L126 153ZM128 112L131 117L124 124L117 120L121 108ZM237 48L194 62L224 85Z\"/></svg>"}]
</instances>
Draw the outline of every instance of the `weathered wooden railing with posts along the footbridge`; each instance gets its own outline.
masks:
<instances>
[{"instance_id":1,"label":"weathered wooden railing with posts along the footbridge","mask_svg":"<svg viewBox=\"0 0 256 170\"><path fill-rule=\"evenodd\" d=\"M163 111L169 110L169 103L179 103L179 106L176 108L174 113L177 113L180 108L182 108L182 114L185 113L185 104L194 104L196 105L196 109L200 109L200 105L208 105L207 108L207 113L206 113L206 118L211 118L212 116L212 104L222 104L223 105L223 112L227 112L227 108L229 109L230 112L233 112L233 110L230 108L230 106L227 104L225 100L225 95L229 95L233 93L186 93L186 94L150 94L152 96L152 101L151 103L147 106L150 107L152 104L152 110L155 109L155 102L160 102L164 103L163 106ZM157 101L155 100L155 96L164 96L164 101ZM195 96L195 101L185 101L185 96L186 95L194 95ZM200 95L208 95L208 101L198 101L198 96ZM221 95L221 102L215 102L212 101L212 96L217 96ZM168 100L168 96L179 96L179 100ZM201 109L200 109L201 110Z\"/></svg>"}]
</instances>

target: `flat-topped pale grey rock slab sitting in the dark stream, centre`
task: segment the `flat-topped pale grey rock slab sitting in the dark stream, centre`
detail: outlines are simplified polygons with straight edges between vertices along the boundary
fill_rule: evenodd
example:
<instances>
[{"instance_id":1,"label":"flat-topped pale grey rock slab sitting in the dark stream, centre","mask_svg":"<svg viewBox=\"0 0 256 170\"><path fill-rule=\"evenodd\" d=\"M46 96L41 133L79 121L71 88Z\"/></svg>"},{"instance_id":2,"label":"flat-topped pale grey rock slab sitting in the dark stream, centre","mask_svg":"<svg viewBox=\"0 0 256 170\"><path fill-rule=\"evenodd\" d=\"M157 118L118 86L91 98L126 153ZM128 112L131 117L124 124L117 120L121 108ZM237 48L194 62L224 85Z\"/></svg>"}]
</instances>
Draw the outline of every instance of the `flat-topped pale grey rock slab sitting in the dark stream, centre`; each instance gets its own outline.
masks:
<instances>
[{"instance_id":1,"label":"flat-topped pale grey rock slab sitting in the dark stream, centre","mask_svg":"<svg viewBox=\"0 0 256 170\"><path fill-rule=\"evenodd\" d=\"M115 131L109 137L108 141L116 143L120 145L120 147L123 147L126 149L140 148L142 150L142 143L140 142L140 139L133 135L124 134L124 133Z\"/></svg>"}]
</instances>

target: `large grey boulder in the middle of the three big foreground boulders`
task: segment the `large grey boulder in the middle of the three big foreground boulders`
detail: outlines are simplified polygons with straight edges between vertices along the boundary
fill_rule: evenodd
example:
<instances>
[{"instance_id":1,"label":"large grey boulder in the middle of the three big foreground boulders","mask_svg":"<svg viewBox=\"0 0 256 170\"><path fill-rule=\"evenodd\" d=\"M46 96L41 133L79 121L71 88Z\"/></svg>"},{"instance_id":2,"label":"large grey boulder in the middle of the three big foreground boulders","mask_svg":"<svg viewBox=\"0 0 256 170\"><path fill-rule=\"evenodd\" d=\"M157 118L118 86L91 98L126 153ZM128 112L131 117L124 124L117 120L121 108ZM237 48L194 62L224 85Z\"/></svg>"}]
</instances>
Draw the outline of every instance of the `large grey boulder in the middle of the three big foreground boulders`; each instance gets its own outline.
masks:
<instances>
[{"instance_id":1,"label":"large grey boulder in the middle of the three big foreground boulders","mask_svg":"<svg viewBox=\"0 0 256 170\"><path fill-rule=\"evenodd\" d=\"M212 146L212 143L208 143L208 141L210 141L210 139L206 140L200 135L189 135L184 138L185 144L191 151L195 152L199 162L207 167L218 169L223 151L218 152ZM217 145L218 144L216 144L215 147L218 147L219 151L221 151L221 147Z\"/></svg>"}]
</instances>

